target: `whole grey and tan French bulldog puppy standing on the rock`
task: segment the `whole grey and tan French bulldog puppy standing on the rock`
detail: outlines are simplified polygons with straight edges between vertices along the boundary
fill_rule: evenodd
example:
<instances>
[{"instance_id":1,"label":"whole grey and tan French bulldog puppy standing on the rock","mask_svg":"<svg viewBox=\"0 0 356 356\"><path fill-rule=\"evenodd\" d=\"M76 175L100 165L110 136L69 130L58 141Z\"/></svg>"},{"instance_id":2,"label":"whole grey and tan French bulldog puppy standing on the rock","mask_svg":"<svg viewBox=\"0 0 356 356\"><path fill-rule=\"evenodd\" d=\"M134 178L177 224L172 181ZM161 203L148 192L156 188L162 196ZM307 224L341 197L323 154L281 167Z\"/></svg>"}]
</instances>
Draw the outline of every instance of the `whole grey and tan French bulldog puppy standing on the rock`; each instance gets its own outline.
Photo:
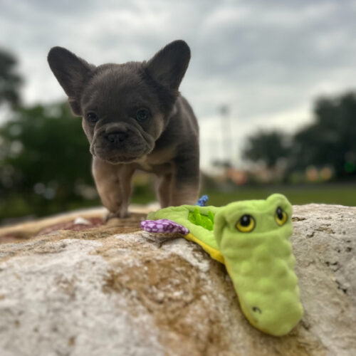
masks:
<instances>
[{"instance_id":1,"label":"whole grey and tan French bulldog puppy standing on the rock","mask_svg":"<svg viewBox=\"0 0 356 356\"><path fill-rule=\"evenodd\" d=\"M93 155L93 176L110 216L125 217L136 169L157 176L162 207L195 204L199 194L199 128L179 84L190 60L174 41L144 62L93 66L53 47L48 63L68 95Z\"/></svg>"}]
</instances>

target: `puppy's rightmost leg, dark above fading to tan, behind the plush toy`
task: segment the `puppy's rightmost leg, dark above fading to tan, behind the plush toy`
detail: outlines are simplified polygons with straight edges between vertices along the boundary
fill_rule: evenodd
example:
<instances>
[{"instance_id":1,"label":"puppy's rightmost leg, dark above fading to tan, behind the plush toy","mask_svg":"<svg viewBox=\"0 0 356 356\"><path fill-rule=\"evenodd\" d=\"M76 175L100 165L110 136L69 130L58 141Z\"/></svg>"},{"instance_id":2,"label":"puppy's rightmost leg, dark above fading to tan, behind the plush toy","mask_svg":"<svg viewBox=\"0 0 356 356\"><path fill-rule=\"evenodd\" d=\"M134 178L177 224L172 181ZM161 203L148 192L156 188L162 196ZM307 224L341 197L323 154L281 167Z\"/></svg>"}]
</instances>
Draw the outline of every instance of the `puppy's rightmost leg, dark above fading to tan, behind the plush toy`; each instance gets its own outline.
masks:
<instances>
[{"instance_id":1,"label":"puppy's rightmost leg, dark above fading to tan, behind the plush toy","mask_svg":"<svg viewBox=\"0 0 356 356\"><path fill-rule=\"evenodd\" d=\"M199 150L197 155L179 155L174 159L169 205L197 204L199 198Z\"/></svg>"}]
</instances>

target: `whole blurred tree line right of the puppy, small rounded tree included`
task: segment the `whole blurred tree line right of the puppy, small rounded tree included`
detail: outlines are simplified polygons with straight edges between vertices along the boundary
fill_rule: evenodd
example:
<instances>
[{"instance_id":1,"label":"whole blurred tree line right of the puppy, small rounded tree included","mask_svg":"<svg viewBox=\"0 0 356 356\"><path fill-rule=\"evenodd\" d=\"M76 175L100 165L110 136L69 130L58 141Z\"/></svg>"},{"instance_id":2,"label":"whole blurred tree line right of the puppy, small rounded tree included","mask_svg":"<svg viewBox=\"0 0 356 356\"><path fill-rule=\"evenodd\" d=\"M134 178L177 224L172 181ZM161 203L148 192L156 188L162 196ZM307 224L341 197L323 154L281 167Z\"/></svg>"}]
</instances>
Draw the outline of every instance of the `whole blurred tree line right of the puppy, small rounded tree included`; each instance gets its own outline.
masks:
<instances>
[{"instance_id":1,"label":"whole blurred tree line right of the puppy, small rounded tree included","mask_svg":"<svg viewBox=\"0 0 356 356\"><path fill-rule=\"evenodd\" d=\"M248 138L244 158L276 166L288 159L287 174L309 166L332 167L335 178L356 177L356 94L315 102L315 120L288 140L281 132L257 132Z\"/></svg>"}]
</instances>

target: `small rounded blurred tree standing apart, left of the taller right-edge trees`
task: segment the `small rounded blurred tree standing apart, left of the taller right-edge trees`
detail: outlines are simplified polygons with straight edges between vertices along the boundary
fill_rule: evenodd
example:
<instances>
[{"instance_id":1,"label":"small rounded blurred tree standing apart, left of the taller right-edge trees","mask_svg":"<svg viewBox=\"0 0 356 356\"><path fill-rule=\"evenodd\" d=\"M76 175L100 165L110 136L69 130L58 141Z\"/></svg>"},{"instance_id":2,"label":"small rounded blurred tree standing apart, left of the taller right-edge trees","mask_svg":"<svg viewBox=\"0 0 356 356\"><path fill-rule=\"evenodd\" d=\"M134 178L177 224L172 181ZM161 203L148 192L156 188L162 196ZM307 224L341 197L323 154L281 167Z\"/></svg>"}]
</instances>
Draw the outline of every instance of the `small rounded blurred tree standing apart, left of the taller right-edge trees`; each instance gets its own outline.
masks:
<instances>
[{"instance_id":1,"label":"small rounded blurred tree standing apart, left of the taller right-edge trees","mask_svg":"<svg viewBox=\"0 0 356 356\"><path fill-rule=\"evenodd\" d=\"M288 157L290 149L282 132L259 131L247 139L242 155L252 162L263 162L266 167L276 167L278 159Z\"/></svg>"}]
</instances>

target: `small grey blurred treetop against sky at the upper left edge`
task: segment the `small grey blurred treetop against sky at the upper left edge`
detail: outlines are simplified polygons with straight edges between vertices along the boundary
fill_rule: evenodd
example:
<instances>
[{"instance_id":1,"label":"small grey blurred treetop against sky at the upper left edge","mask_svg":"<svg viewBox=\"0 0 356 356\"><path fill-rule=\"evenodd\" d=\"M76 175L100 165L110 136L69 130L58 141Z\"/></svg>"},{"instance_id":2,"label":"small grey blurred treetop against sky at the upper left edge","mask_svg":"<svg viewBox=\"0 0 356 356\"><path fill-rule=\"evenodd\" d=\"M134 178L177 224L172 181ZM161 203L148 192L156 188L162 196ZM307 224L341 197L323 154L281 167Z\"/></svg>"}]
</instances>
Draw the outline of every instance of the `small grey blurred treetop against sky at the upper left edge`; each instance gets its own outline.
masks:
<instances>
[{"instance_id":1,"label":"small grey blurred treetop against sky at the upper left edge","mask_svg":"<svg viewBox=\"0 0 356 356\"><path fill-rule=\"evenodd\" d=\"M16 107L20 103L19 89L22 78L16 73L17 60L10 53L0 50L0 105L9 103Z\"/></svg>"}]
</instances>

